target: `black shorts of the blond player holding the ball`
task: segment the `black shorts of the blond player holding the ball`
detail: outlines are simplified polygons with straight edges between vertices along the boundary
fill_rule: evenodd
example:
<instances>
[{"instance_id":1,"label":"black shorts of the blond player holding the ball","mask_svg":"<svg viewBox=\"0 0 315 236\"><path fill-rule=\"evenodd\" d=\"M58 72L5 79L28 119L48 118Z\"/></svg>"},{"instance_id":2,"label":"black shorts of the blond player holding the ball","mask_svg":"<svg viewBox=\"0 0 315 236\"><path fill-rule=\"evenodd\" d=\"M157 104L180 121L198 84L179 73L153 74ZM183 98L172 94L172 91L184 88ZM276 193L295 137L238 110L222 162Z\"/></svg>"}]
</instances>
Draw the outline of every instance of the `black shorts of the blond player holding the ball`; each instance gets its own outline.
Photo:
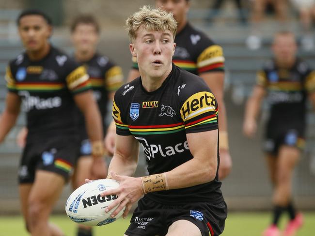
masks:
<instances>
[{"instance_id":1,"label":"black shorts of the blond player holding the ball","mask_svg":"<svg viewBox=\"0 0 315 236\"><path fill-rule=\"evenodd\" d=\"M174 221L187 220L195 224L202 236L218 236L223 232L227 217L225 202L219 204L191 203L187 205L162 205L144 196L138 202L128 236L165 236Z\"/></svg>"}]
</instances>

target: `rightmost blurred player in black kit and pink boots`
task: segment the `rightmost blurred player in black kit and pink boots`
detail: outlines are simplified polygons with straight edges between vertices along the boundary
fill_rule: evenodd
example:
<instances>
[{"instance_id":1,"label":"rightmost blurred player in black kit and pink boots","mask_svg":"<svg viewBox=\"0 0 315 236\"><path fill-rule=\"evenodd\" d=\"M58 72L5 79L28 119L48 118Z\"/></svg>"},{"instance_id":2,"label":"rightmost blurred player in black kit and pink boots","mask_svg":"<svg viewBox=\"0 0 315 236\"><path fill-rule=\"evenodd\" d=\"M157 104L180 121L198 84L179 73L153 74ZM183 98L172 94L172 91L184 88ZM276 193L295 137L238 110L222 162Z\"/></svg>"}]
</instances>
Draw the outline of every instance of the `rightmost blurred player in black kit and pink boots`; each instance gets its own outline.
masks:
<instances>
[{"instance_id":1,"label":"rightmost blurred player in black kit and pink boots","mask_svg":"<svg viewBox=\"0 0 315 236\"><path fill-rule=\"evenodd\" d=\"M291 32L276 34L272 50L274 59L265 63L257 74L245 112L244 133L252 137L263 98L271 106L266 128L265 152L274 186L274 213L265 236L278 236L278 221L288 211L290 221L284 236L293 236L302 224L302 215L292 203L292 173L304 146L307 98L315 105L315 71L296 57L297 44Z\"/></svg>"}]
</instances>

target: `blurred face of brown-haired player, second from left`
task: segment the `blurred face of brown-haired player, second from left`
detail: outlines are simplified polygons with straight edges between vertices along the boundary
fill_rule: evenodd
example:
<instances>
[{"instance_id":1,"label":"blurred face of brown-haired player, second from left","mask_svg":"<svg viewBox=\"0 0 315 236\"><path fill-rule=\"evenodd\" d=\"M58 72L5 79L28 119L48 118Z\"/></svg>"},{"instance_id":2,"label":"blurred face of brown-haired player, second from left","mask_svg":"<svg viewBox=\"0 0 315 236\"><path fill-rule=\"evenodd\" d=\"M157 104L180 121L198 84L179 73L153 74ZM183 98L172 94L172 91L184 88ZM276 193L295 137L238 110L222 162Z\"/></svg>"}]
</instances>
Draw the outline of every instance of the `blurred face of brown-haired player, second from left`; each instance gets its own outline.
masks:
<instances>
[{"instance_id":1,"label":"blurred face of brown-haired player, second from left","mask_svg":"<svg viewBox=\"0 0 315 236\"><path fill-rule=\"evenodd\" d=\"M72 32L72 42L76 51L95 50L99 35L93 24L78 24Z\"/></svg>"}]
</instances>

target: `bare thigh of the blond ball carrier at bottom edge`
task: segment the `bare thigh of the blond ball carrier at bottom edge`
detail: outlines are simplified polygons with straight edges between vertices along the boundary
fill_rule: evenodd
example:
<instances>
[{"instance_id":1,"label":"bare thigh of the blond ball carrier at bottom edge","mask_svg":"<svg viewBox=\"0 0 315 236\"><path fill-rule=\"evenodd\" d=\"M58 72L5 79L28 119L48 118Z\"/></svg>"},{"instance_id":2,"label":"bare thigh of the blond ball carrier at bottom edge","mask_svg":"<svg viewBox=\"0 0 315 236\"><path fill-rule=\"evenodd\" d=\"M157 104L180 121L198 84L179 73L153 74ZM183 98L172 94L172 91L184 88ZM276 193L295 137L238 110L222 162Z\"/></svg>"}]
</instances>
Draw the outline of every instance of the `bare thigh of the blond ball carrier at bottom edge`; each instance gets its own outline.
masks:
<instances>
[{"instance_id":1,"label":"bare thigh of the blond ball carrier at bottom edge","mask_svg":"<svg viewBox=\"0 0 315 236\"><path fill-rule=\"evenodd\" d=\"M174 221L166 236L202 236L200 229L194 223L187 220Z\"/></svg>"}]
</instances>

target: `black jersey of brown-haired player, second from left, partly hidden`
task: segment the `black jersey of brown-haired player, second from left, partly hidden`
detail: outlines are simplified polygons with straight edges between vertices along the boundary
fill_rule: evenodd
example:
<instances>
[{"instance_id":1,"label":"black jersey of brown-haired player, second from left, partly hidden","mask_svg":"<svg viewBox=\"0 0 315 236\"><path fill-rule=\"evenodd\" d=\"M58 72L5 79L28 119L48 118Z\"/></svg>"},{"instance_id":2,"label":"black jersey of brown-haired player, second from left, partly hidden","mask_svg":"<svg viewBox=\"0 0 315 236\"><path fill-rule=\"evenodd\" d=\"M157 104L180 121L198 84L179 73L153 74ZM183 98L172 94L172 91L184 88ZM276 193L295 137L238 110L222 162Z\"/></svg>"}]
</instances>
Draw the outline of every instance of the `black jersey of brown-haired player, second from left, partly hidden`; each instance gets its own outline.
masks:
<instances>
[{"instance_id":1,"label":"black jersey of brown-haired player, second from left, partly hidden","mask_svg":"<svg viewBox=\"0 0 315 236\"><path fill-rule=\"evenodd\" d=\"M80 63L85 66L90 76L94 98L105 124L109 92L116 91L121 87L124 79L122 69L110 61L108 57L99 54L95 54L92 59ZM79 109L77 109L77 118L79 126L85 127L85 119ZM105 128L105 125L103 127Z\"/></svg>"}]
</instances>

